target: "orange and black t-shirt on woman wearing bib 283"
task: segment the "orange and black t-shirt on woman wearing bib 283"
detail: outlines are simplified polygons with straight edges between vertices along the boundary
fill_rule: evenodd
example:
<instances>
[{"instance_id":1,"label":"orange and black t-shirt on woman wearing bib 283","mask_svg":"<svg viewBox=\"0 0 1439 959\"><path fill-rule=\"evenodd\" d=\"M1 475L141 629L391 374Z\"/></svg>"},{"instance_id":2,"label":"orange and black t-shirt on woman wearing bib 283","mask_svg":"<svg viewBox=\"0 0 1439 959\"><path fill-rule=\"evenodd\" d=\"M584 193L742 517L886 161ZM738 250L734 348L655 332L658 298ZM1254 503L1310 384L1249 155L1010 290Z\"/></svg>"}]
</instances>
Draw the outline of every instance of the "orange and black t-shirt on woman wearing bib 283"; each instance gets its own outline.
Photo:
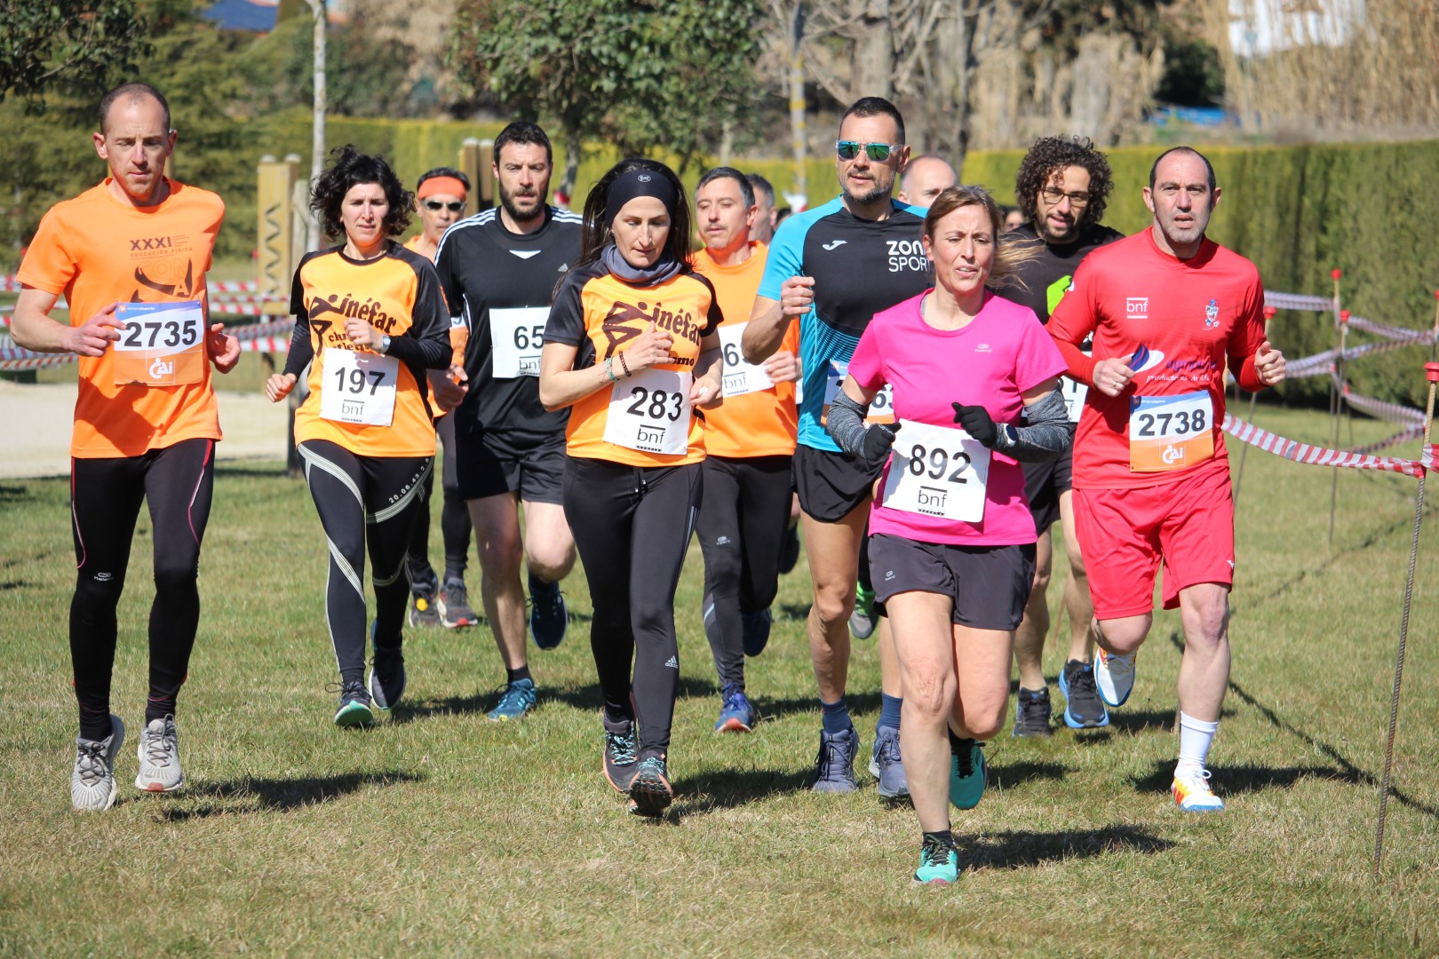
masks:
<instances>
[{"instance_id":1,"label":"orange and black t-shirt on woman wearing bib 283","mask_svg":"<svg viewBox=\"0 0 1439 959\"><path fill-rule=\"evenodd\" d=\"M688 265L661 283L636 286L596 262L570 270L564 277L554 306L550 308L544 339L578 347L574 368L583 370L629 349L633 338L646 332L653 322L656 328L673 335L675 344L669 354L673 362L656 364L643 372L692 374L699 359L699 341L720 326L720 319L714 288ZM636 378L620 374L619 359L613 370L619 377L617 382L596 390L570 408L570 423L566 427L566 450L570 456L626 466L685 466L705 459L704 426L694 411L686 424L682 453L656 453L607 440L610 403L619 400L619 391L629 397L623 405L637 416L659 411L662 417L669 417L679 408L672 391L668 395L633 393L640 384ZM643 374L636 374L639 375ZM688 391L685 395L688 397Z\"/></svg>"}]
</instances>

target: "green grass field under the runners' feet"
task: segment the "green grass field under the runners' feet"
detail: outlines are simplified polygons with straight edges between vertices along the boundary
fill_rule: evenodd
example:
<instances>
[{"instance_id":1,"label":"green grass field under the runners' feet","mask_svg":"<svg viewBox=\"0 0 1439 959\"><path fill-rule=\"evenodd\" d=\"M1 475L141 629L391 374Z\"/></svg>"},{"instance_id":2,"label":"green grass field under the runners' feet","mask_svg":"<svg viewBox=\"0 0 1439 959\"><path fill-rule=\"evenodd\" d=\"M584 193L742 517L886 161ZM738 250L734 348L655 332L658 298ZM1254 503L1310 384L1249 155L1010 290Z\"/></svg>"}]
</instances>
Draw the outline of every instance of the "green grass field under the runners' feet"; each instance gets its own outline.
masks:
<instances>
[{"instance_id":1,"label":"green grass field under the runners' feet","mask_svg":"<svg viewBox=\"0 0 1439 959\"><path fill-rule=\"evenodd\" d=\"M1315 413L1262 408L1259 420L1327 439ZM1354 428L1356 441L1386 431ZM0 487L0 955L1439 953L1433 528L1387 855L1381 881L1370 878L1409 477L1340 476L1331 546L1331 472L1248 457L1235 667L1212 755L1223 814L1184 815L1167 797L1179 624L1161 614L1108 730L990 745L990 792L954 817L964 873L937 890L909 883L914 812L879 805L868 775L849 797L803 789L819 728L803 565L781 585L770 648L750 663L763 722L717 736L691 551L678 598L678 798L665 821L640 821L599 769L578 571L566 585L568 638L532 656L531 717L484 719L502 670L481 625L407 631L404 707L370 732L331 726L324 543L304 486L276 470L226 467L217 480L181 697L189 789L137 794L131 738L117 762L121 801L85 817L66 791L68 487ZM147 529L142 519L119 610L114 707L131 736L145 694ZM437 555L437 523L433 536ZM850 702L868 749L878 664L872 643L855 650Z\"/></svg>"}]
</instances>

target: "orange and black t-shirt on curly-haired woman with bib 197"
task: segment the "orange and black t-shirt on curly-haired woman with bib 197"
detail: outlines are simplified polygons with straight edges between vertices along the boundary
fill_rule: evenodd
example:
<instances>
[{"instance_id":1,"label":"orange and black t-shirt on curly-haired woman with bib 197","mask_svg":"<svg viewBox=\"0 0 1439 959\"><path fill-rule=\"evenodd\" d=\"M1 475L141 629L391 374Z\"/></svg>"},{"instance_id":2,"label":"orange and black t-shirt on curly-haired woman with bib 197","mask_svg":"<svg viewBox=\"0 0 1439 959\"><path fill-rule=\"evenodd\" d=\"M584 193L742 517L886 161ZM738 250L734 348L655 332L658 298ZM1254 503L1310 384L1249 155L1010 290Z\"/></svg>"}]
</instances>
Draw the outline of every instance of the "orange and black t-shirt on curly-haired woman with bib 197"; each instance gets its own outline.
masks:
<instances>
[{"instance_id":1,"label":"orange and black t-shirt on curly-haired woman with bib 197","mask_svg":"<svg viewBox=\"0 0 1439 959\"><path fill-rule=\"evenodd\" d=\"M440 368L449 357L449 313L435 266L399 243L364 262L347 257L342 247L309 253L295 270L291 311L296 335L285 372L298 372L309 361L309 395L295 411L295 443L330 440L357 456L435 456L435 421L427 390L420 388L426 367ZM337 374L342 372L334 368L327 375L325 357L354 349L344 329L348 316L360 316L393 341L390 355L397 368L389 426L324 416L324 390L337 390ZM433 345L401 349L396 347L401 338ZM413 352L414 358L401 358L401 352ZM363 377L360 381L366 382ZM345 377L338 382L348 385Z\"/></svg>"}]
</instances>

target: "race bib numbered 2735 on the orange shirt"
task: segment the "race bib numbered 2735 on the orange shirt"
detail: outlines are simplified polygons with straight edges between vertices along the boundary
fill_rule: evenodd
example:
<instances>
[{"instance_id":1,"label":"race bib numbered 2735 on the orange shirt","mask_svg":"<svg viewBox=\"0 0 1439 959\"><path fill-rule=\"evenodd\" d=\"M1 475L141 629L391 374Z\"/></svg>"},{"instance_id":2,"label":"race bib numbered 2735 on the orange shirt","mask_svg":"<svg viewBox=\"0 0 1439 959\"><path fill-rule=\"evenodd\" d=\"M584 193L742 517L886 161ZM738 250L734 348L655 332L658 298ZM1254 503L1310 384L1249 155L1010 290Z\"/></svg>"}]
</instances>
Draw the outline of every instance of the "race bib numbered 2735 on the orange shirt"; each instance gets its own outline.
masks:
<instances>
[{"instance_id":1,"label":"race bib numbered 2735 on the orange shirt","mask_svg":"<svg viewBox=\"0 0 1439 959\"><path fill-rule=\"evenodd\" d=\"M204 309L200 300L119 303L115 384L183 387L204 377Z\"/></svg>"}]
</instances>

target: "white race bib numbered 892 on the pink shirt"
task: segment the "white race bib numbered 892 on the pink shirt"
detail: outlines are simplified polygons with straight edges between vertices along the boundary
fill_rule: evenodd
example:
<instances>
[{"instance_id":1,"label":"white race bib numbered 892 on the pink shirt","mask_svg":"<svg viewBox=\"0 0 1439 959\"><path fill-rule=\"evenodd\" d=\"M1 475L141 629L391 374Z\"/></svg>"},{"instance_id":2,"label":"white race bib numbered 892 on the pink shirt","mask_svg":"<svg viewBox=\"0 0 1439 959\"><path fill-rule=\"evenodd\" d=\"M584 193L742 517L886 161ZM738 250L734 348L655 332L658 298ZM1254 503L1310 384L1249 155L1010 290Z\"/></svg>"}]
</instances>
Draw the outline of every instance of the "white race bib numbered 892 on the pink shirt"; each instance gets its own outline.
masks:
<instances>
[{"instance_id":1,"label":"white race bib numbered 892 on the pink shirt","mask_svg":"<svg viewBox=\"0 0 1439 959\"><path fill-rule=\"evenodd\" d=\"M964 430L899 420L881 503L921 516L984 519L990 450Z\"/></svg>"}]
</instances>

